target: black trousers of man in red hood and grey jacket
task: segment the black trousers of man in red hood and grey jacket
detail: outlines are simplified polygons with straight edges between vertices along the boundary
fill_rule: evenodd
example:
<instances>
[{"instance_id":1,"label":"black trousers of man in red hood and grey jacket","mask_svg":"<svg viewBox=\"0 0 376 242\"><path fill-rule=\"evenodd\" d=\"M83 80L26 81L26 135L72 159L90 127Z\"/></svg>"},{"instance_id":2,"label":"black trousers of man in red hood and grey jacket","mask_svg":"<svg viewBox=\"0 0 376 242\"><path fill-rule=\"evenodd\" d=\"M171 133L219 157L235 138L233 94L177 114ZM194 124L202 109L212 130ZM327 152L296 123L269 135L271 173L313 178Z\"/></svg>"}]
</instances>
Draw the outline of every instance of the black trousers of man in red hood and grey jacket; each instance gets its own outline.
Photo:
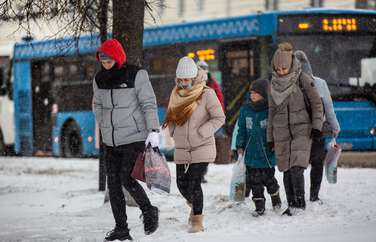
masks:
<instances>
[{"instance_id":1,"label":"black trousers of man in red hood and grey jacket","mask_svg":"<svg viewBox=\"0 0 376 242\"><path fill-rule=\"evenodd\" d=\"M106 145L107 187L116 224L124 224L127 221L126 203L122 186L124 186L135 199L142 212L147 212L152 209L152 205L150 204L150 200L144 188L136 179L130 176L135 166L138 153L143 152L144 149L144 141L124 144L117 147Z\"/></svg>"}]
</instances>

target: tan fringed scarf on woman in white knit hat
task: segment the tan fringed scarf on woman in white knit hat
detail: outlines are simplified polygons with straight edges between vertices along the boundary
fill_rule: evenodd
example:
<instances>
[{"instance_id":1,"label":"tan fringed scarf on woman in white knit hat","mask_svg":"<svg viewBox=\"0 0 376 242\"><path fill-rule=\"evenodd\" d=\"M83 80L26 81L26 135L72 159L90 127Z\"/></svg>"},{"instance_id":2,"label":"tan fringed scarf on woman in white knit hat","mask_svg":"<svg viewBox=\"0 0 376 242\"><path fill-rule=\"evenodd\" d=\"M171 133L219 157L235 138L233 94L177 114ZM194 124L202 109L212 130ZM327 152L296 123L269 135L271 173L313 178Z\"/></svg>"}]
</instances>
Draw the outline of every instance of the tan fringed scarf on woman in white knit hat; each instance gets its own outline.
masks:
<instances>
[{"instance_id":1,"label":"tan fringed scarf on woman in white knit hat","mask_svg":"<svg viewBox=\"0 0 376 242\"><path fill-rule=\"evenodd\" d=\"M174 87L162 124L162 130L167 128L170 122L176 126L183 126L190 119L199 100L202 98L203 89L208 88L204 87L205 84L206 82L202 81L188 89L182 89L177 85Z\"/></svg>"}]
</instances>

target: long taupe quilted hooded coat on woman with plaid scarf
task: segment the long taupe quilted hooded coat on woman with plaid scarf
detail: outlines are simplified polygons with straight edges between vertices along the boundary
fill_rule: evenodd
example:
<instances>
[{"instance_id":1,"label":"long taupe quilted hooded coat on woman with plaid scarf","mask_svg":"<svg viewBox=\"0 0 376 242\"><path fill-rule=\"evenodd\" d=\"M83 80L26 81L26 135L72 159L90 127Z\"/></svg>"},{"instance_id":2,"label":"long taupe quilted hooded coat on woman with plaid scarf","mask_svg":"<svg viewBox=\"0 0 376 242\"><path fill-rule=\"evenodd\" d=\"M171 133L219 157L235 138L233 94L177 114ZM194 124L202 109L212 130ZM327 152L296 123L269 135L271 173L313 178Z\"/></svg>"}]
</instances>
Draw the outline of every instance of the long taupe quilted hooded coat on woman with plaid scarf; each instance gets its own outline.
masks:
<instances>
[{"instance_id":1,"label":"long taupe quilted hooded coat on woman with plaid scarf","mask_svg":"<svg viewBox=\"0 0 376 242\"><path fill-rule=\"evenodd\" d=\"M297 71L302 66L293 54L290 73ZM276 69L271 61L273 72ZM279 171L287 171L291 167L301 166L307 168L311 151L311 128L321 130L323 124L323 105L317 87L311 77L304 72L300 74L299 81L307 93L312 107L312 124L309 119L303 98L303 92L297 86L294 100L289 102L279 113L271 96L269 98L269 116L267 126L267 141L274 141L276 161Z\"/></svg>"}]
</instances>

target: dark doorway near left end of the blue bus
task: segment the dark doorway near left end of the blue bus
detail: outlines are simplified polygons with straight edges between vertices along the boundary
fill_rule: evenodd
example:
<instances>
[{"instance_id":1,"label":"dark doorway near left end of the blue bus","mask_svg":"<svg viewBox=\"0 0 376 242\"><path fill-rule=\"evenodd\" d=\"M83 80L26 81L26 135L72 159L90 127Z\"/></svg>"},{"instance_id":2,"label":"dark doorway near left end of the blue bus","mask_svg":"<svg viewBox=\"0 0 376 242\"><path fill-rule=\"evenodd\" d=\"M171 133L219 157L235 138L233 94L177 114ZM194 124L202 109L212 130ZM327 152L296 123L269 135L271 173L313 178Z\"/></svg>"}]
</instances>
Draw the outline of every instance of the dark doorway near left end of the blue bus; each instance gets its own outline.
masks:
<instances>
[{"instance_id":1,"label":"dark doorway near left end of the blue bus","mask_svg":"<svg viewBox=\"0 0 376 242\"><path fill-rule=\"evenodd\" d=\"M34 153L48 155L52 151L50 63L32 62L31 75Z\"/></svg>"}]
</instances>

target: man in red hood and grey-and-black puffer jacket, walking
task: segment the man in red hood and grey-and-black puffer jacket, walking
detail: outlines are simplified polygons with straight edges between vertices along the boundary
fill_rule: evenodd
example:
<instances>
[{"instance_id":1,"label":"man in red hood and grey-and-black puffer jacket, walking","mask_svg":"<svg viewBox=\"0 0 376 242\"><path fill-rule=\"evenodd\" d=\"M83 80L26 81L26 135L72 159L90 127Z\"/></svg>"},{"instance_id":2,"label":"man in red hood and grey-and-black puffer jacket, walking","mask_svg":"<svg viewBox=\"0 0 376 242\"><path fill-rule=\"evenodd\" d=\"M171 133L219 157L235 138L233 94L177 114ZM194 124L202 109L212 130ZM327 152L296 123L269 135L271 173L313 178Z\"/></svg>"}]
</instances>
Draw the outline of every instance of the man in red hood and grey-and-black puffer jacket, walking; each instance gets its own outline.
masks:
<instances>
[{"instance_id":1,"label":"man in red hood and grey-and-black puffer jacket, walking","mask_svg":"<svg viewBox=\"0 0 376 242\"><path fill-rule=\"evenodd\" d=\"M126 55L116 39L105 41L96 51L102 63L94 77L94 113L106 144L106 174L115 228L104 241L132 240L122 186L142 211L145 234L159 225L159 210L152 206L144 188L130 174L138 153L146 144L158 146L157 104L147 72L125 63Z\"/></svg>"}]
</instances>

